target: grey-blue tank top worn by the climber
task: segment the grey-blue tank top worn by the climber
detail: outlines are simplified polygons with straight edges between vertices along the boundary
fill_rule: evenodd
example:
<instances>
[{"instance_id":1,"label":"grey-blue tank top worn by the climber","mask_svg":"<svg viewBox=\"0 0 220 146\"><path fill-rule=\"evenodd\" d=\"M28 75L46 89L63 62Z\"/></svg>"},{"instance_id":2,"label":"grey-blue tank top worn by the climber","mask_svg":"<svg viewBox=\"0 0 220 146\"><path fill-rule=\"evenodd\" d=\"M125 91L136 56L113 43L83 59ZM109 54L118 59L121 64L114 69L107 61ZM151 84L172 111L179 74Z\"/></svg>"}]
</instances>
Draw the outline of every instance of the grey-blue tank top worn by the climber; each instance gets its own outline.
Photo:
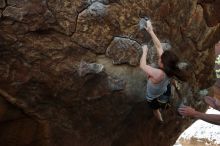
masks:
<instances>
[{"instance_id":1,"label":"grey-blue tank top worn by the climber","mask_svg":"<svg viewBox=\"0 0 220 146\"><path fill-rule=\"evenodd\" d=\"M150 80L147 82L147 98L155 99L167 91L167 85L170 83L170 79L165 74L164 79L153 84Z\"/></svg>"}]
</instances>

